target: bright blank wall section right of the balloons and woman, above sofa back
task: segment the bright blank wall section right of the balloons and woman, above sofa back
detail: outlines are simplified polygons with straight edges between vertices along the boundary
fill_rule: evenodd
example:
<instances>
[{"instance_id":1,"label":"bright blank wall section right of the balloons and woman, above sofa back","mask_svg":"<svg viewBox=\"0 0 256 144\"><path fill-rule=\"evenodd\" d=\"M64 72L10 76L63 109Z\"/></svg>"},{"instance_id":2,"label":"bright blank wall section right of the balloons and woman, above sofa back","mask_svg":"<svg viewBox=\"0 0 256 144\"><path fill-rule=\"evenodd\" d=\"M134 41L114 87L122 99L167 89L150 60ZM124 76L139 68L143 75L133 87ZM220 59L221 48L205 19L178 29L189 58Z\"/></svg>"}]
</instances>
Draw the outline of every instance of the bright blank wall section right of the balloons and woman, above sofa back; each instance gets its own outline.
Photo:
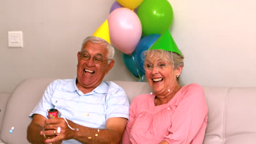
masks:
<instances>
[{"instance_id":1,"label":"bright blank wall section right of the balloons and woman, above sofa back","mask_svg":"<svg viewBox=\"0 0 256 144\"><path fill-rule=\"evenodd\" d=\"M185 83L256 86L256 1L170 3L172 34L185 55Z\"/></svg>"}]
</instances>

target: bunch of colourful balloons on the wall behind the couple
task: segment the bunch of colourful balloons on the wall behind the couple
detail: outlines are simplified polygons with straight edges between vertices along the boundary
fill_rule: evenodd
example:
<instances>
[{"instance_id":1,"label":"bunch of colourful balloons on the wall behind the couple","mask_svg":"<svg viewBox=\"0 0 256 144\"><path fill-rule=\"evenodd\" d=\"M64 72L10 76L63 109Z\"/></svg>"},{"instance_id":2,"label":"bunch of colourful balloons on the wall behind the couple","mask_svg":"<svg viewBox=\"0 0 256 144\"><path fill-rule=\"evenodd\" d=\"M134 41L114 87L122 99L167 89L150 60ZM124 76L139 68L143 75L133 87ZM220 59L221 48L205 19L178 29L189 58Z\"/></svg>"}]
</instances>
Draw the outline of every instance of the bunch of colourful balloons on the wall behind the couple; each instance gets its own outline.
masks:
<instances>
[{"instance_id":1,"label":"bunch of colourful balloons on the wall behind the couple","mask_svg":"<svg viewBox=\"0 0 256 144\"><path fill-rule=\"evenodd\" d=\"M170 28L172 20L173 10L167 0L117 0L112 4L104 22L109 28L105 35L109 34L110 43L123 52L127 69L139 81L145 73L143 51Z\"/></svg>"}]
</instances>

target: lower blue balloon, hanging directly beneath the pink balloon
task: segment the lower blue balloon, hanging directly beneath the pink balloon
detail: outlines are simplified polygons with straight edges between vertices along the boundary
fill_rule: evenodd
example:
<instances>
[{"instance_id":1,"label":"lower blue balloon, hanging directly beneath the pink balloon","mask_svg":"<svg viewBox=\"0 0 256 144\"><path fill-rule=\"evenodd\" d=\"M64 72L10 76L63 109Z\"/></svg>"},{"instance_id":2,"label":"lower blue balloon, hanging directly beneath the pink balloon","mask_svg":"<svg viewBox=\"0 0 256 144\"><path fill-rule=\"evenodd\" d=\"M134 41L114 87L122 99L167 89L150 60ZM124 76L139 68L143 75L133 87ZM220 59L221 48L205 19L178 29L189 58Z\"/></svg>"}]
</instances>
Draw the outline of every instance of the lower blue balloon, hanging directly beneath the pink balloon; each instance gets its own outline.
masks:
<instances>
[{"instance_id":1,"label":"lower blue balloon, hanging directly beneath the pink balloon","mask_svg":"<svg viewBox=\"0 0 256 144\"><path fill-rule=\"evenodd\" d=\"M123 53L123 61L126 68L132 73L132 75L139 78L141 81L141 79L143 79L144 73L138 68L135 56L135 51L133 51L131 55L126 55L125 53Z\"/></svg>"}]
</instances>

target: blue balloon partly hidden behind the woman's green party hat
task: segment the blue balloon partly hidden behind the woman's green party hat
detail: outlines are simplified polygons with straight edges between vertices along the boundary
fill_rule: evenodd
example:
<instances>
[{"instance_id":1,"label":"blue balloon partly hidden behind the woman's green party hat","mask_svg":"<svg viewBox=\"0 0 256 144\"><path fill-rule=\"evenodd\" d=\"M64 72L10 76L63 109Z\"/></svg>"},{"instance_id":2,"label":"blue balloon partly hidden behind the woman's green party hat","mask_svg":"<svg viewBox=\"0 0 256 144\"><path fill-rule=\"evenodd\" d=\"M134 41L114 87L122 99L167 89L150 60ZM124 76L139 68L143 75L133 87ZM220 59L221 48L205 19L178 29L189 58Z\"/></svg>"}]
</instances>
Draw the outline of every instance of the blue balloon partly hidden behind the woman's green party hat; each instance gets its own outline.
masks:
<instances>
[{"instance_id":1,"label":"blue balloon partly hidden behind the woman's green party hat","mask_svg":"<svg viewBox=\"0 0 256 144\"><path fill-rule=\"evenodd\" d=\"M155 41L160 37L160 34L149 34L146 37L139 40L138 45L136 46L136 62L138 63L138 68L145 74L144 70L144 57L142 53L148 50Z\"/></svg>"}]
</instances>

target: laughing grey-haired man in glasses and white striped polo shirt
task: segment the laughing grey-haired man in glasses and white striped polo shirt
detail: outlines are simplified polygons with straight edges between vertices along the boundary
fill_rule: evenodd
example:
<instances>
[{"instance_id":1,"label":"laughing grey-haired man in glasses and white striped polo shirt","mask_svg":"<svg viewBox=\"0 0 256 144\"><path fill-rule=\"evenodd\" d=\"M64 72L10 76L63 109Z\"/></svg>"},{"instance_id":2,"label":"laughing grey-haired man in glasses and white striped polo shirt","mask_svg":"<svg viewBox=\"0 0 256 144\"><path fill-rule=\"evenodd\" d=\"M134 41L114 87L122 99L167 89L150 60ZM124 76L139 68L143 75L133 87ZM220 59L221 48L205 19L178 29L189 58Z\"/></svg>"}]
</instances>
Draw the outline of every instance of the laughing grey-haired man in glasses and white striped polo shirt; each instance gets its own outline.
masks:
<instances>
[{"instance_id":1,"label":"laughing grey-haired man in glasses and white striped polo shirt","mask_svg":"<svg viewBox=\"0 0 256 144\"><path fill-rule=\"evenodd\" d=\"M88 37L78 52L77 77L55 80L32 111L27 129L31 143L119 143L129 118L124 90L104 76L114 66L114 48ZM47 119L56 109L60 118Z\"/></svg>"}]
</instances>

